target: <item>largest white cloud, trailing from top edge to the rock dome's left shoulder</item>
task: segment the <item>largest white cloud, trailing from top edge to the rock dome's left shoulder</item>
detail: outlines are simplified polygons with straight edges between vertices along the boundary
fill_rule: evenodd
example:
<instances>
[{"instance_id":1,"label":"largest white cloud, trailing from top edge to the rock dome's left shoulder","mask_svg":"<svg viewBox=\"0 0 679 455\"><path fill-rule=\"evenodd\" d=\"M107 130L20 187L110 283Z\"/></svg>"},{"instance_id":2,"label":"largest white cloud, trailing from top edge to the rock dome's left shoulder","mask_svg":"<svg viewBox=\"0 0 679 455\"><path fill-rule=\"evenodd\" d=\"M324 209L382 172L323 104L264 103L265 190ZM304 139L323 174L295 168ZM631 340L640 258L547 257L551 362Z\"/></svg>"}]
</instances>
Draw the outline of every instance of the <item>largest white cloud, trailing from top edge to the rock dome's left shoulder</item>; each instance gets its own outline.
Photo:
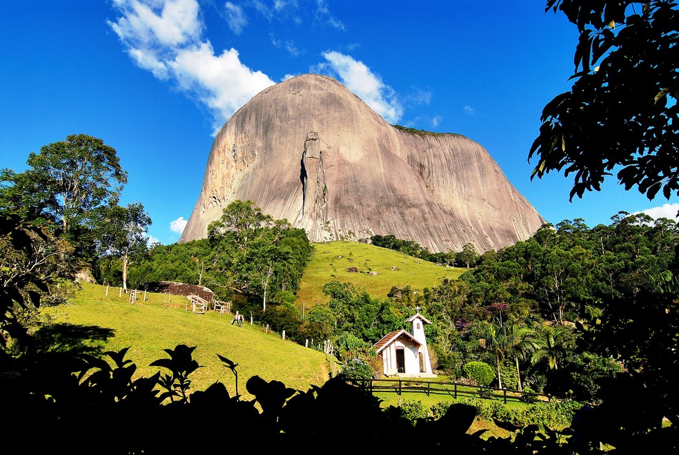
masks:
<instances>
[{"instance_id":1,"label":"largest white cloud, trailing from top edge to the rock dome's left shoulder","mask_svg":"<svg viewBox=\"0 0 679 455\"><path fill-rule=\"evenodd\" d=\"M158 79L172 79L213 115L215 133L250 99L274 82L251 70L237 50L216 55L202 36L196 0L114 0L122 14L108 25L130 57Z\"/></svg>"}]
</instances>

